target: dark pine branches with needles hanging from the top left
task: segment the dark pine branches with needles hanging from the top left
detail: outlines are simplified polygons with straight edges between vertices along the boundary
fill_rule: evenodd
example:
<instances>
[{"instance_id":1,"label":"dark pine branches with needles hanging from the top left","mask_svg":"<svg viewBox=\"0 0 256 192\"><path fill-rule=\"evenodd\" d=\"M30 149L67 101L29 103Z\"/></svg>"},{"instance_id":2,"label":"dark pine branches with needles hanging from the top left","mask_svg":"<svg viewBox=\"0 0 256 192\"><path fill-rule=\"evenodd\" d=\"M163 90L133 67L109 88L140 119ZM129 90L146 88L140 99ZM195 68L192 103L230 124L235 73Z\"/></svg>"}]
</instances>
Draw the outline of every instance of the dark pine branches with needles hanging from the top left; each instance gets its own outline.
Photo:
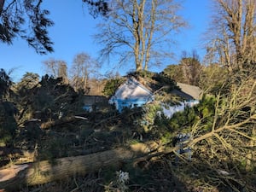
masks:
<instances>
[{"instance_id":1,"label":"dark pine branches with needles hanging from the top left","mask_svg":"<svg viewBox=\"0 0 256 192\"><path fill-rule=\"evenodd\" d=\"M90 6L90 13L107 15L105 0L82 0ZM49 10L42 9L44 0L0 0L0 41L12 44L15 37L23 38L39 54L52 52L53 42L48 28L54 22L49 20Z\"/></svg>"}]
</instances>

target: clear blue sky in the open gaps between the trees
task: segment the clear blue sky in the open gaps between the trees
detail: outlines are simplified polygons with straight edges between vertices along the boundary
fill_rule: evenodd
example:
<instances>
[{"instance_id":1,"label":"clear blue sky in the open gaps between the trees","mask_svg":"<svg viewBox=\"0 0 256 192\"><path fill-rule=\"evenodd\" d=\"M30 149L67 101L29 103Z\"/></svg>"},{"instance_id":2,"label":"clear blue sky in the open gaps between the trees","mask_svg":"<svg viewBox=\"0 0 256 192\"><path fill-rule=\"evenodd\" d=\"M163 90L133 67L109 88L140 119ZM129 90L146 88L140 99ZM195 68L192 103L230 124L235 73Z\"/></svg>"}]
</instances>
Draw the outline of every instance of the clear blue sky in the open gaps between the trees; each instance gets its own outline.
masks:
<instances>
[{"instance_id":1,"label":"clear blue sky in the open gaps between the trees","mask_svg":"<svg viewBox=\"0 0 256 192\"><path fill-rule=\"evenodd\" d=\"M206 32L210 17L211 0L184 0L181 15L189 22L190 27L183 30L177 37L177 45L173 47L176 55L170 63L177 63L183 50L191 52L196 49L201 55L204 50L201 46L201 35ZM25 41L16 38L12 45L0 43L0 68L9 71L15 68L11 77L18 81L26 72L44 75L42 61L54 58L67 62L67 67L71 67L74 55L85 52L96 58L101 49L92 38L96 32L96 23L99 19L93 19L88 14L86 5L82 0L61 1L44 0L44 8L49 9L49 18L55 22L55 26L49 28L49 36L54 41L55 52L48 55L38 55L34 49L29 47ZM202 59L202 58L201 58ZM162 66L155 71L161 71L166 66ZM107 71L109 66L102 67L102 73ZM119 73L131 68L121 69Z\"/></svg>"}]
</instances>

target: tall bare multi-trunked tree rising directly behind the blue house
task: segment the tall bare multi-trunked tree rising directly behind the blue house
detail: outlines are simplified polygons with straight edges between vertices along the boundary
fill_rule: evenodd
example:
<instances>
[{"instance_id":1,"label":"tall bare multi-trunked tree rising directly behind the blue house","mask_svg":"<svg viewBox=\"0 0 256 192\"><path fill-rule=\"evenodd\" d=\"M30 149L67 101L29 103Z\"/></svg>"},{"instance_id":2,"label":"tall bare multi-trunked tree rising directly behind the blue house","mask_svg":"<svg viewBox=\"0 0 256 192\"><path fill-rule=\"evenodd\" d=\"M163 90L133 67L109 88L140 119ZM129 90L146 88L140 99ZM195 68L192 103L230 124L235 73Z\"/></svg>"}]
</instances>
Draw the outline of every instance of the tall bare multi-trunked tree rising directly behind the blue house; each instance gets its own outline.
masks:
<instances>
[{"instance_id":1,"label":"tall bare multi-trunked tree rising directly behind the blue house","mask_svg":"<svg viewBox=\"0 0 256 192\"><path fill-rule=\"evenodd\" d=\"M99 25L96 39L103 56L119 55L119 63L134 59L137 71L148 70L170 56L171 35L185 22L173 0L112 0L108 20Z\"/></svg>"}]
</instances>

